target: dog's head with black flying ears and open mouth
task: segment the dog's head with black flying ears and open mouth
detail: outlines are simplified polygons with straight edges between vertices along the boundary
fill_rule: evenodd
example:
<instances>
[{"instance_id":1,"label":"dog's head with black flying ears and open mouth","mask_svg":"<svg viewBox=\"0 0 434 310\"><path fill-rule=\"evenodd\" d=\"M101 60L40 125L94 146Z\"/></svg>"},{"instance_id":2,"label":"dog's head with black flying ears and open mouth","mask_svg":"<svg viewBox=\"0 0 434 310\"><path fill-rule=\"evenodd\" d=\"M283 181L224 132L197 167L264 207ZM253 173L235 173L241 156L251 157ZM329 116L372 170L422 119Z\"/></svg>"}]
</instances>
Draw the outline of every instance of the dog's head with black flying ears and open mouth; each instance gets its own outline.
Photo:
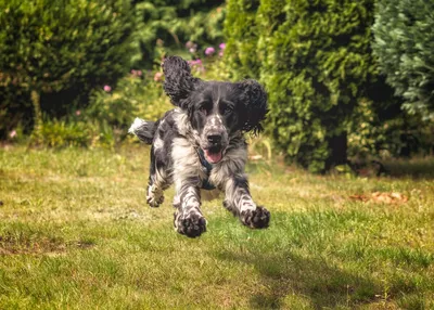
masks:
<instances>
[{"instance_id":1,"label":"dog's head with black flying ears and open mouth","mask_svg":"<svg viewBox=\"0 0 434 310\"><path fill-rule=\"evenodd\" d=\"M167 57L163 72L164 90L174 105L187 112L207 162L221 160L234 133L263 130L267 94L257 81L204 81L193 77L190 65L178 56Z\"/></svg>"}]
</instances>

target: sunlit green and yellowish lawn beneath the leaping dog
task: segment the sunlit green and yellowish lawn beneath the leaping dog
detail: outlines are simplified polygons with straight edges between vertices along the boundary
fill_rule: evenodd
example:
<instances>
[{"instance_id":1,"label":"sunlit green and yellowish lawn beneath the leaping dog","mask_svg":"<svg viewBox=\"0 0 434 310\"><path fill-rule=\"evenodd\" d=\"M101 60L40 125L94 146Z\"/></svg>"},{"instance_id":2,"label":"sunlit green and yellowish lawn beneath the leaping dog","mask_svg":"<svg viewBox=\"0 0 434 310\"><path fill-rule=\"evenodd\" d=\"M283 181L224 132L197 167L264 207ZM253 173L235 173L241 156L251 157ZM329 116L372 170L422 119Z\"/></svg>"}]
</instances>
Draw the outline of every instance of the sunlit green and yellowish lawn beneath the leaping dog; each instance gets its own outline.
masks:
<instances>
[{"instance_id":1,"label":"sunlit green and yellowish lawn beneath the leaping dog","mask_svg":"<svg viewBox=\"0 0 434 310\"><path fill-rule=\"evenodd\" d=\"M0 309L434 309L433 159L371 179L254 164L270 228L215 199L190 240L173 190L144 204L148 152L0 150Z\"/></svg>"}]
</instances>

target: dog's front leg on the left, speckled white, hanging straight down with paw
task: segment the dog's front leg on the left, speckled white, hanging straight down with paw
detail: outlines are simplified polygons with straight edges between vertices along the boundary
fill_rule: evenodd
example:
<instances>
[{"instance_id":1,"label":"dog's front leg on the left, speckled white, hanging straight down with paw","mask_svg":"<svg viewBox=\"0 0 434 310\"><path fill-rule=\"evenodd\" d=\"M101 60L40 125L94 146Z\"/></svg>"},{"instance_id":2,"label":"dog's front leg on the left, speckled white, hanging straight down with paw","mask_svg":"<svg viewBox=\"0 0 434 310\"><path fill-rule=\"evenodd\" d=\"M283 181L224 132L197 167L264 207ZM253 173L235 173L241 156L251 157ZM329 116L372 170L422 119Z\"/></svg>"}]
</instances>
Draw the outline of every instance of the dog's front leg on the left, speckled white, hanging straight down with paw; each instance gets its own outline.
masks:
<instances>
[{"instance_id":1,"label":"dog's front leg on the left, speckled white, hanging straight down with paw","mask_svg":"<svg viewBox=\"0 0 434 310\"><path fill-rule=\"evenodd\" d=\"M200 236L206 231L206 220L201 211L201 194L197 186L199 180L184 180L177 186L174 198L175 229L189 237Z\"/></svg>"}]
</instances>

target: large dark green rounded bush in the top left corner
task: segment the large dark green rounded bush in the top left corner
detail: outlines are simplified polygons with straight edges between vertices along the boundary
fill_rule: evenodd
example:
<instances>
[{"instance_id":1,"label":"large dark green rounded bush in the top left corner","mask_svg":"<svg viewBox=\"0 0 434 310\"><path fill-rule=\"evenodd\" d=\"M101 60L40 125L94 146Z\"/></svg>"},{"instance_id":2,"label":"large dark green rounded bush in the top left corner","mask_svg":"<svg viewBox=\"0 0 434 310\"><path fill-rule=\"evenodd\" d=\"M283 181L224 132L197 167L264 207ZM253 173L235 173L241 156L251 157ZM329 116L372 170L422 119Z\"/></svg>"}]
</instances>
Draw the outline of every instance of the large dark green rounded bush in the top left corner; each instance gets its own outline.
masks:
<instances>
[{"instance_id":1,"label":"large dark green rounded bush in the top left corner","mask_svg":"<svg viewBox=\"0 0 434 310\"><path fill-rule=\"evenodd\" d=\"M13 119L13 104L28 118L23 102L30 91L40 93L47 113L65 113L128 67L135 28L128 1L0 0L0 93L22 92L1 103L4 121ZM50 102L49 94L59 95Z\"/></svg>"}]
</instances>

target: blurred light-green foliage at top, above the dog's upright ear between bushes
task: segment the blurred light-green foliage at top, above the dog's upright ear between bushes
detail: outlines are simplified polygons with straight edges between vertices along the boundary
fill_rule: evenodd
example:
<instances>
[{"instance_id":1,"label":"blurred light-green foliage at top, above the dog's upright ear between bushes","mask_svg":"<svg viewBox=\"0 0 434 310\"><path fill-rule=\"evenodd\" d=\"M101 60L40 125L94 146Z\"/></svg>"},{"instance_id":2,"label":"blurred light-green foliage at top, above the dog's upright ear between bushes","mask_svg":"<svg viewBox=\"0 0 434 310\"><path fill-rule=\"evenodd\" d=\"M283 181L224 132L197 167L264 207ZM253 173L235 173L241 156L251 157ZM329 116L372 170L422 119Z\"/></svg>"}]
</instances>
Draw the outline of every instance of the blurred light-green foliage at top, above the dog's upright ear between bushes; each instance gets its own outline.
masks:
<instances>
[{"instance_id":1,"label":"blurred light-green foliage at top, above the dog's upright ear between bushes","mask_svg":"<svg viewBox=\"0 0 434 310\"><path fill-rule=\"evenodd\" d=\"M224 0L138 0L135 1L137 29L135 44L140 51L133 57L135 67L152 67L158 60L157 48L168 52L202 54L204 47L222 40ZM184 42L190 42L184 51Z\"/></svg>"}]
</instances>

